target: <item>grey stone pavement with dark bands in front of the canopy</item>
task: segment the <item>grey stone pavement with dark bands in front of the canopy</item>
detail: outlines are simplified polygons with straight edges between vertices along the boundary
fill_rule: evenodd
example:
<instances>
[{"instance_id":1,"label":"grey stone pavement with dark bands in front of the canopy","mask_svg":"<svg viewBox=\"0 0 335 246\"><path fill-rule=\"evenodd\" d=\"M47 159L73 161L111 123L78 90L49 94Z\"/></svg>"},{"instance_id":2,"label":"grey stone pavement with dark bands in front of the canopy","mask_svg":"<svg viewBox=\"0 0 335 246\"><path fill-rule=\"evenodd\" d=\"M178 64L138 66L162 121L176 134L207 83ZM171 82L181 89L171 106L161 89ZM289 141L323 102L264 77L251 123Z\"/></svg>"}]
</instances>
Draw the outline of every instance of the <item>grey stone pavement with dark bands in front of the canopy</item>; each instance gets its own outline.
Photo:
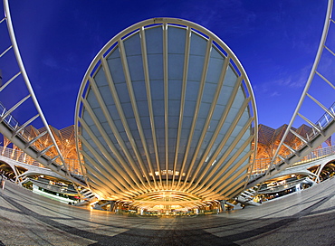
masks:
<instances>
[{"instance_id":1,"label":"grey stone pavement with dark bands in front of the canopy","mask_svg":"<svg viewBox=\"0 0 335 246\"><path fill-rule=\"evenodd\" d=\"M335 245L335 178L244 210L128 217L59 203L6 181L1 245Z\"/></svg>"}]
</instances>

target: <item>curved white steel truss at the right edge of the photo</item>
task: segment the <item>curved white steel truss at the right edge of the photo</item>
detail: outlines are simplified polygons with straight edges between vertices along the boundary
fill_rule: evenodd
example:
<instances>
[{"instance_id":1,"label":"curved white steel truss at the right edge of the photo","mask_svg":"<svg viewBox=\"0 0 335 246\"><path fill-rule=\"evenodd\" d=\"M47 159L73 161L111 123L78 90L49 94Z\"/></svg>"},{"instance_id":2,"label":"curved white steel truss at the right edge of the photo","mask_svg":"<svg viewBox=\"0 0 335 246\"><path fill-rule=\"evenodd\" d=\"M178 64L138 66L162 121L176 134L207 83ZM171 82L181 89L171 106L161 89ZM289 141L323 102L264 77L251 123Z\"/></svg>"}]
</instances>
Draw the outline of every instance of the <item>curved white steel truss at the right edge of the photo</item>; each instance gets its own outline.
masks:
<instances>
[{"instance_id":1,"label":"curved white steel truss at the right edge of the photo","mask_svg":"<svg viewBox=\"0 0 335 246\"><path fill-rule=\"evenodd\" d=\"M335 57L335 52L326 45L326 41L328 40L329 36L330 25L335 25L335 21L331 18L332 8L333 1L329 0L323 32L321 35L321 42L319 44L319 49L316 54L315 61L311 68L310 76L306 82L304 90L302 91L302 97L299 100L298 105L292 115L291 121L282 136L282 140L277 147L276 152L274 153L271 164L264 175L252 180L247 185L248 188L254 187L254 185L260 184L271 176L282 172L283 169L292 166L295 162L301 160L302 157L307 156L309 153L311 153L313 149L321 146L321 144L335 132L335 102L330 106L325 106L321 103L321 98L317 99L315 96L311 96L313 92L315 92L315 89L314 91L311 90L312 82L314 82L314 84L319 82L318 80L315 80L315 75L317 75L317 77L319 77L321 81L329 85L329 95L323 96L329 96L330 98L335 97L335 85L333 82L331 82L332 78L326 78L327 76L323 75L321 71L319 71L320 62L322 61L322 54L328 52L330 55ZM329 70L334 70L334 66L332 68L329 68ZM324 111L324 114L315 123L312 122L308 116L302 114L302 105L306 98L311 99L311 101L315 105L318 105ZM302 120L306 124L310 125L312 128L312 132L307 135L307 137L302 137L292 129L292 125L295 122L297 116L302 118ZM300 146L290 147L285 144L286 139L289 137L290 133L294 137L298 137L301 140L302 144ZM287 149L286 156L279 155L279 151L282 147L285 147Z\"/></svg>"}]
</instances>

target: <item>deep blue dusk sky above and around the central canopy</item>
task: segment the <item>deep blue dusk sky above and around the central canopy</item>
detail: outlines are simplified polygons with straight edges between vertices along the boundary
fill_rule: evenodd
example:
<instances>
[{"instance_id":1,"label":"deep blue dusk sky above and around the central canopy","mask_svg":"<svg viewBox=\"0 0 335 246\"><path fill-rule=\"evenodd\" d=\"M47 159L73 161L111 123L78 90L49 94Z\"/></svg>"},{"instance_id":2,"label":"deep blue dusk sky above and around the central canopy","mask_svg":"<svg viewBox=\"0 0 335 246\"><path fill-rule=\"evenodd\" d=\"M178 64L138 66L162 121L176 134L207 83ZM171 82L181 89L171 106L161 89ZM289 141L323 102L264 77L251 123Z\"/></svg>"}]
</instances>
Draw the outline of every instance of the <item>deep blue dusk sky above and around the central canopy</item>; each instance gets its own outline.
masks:
<instances>
[{"instance_id":1,"label":"deep blue dusk sky above and around the central canopy","mask_svg":"<svg viewBox=\"0 0 335 246\"><path fill-rule=\"evenodd\" d=\"M102 46L152 17L187 19L220 37L249 76L259 123L279 128L289 123L311 71L327 1L15 0L10 7L26 71L55 128L73 124L82 77Z\"/></svg>"}]
</instances>

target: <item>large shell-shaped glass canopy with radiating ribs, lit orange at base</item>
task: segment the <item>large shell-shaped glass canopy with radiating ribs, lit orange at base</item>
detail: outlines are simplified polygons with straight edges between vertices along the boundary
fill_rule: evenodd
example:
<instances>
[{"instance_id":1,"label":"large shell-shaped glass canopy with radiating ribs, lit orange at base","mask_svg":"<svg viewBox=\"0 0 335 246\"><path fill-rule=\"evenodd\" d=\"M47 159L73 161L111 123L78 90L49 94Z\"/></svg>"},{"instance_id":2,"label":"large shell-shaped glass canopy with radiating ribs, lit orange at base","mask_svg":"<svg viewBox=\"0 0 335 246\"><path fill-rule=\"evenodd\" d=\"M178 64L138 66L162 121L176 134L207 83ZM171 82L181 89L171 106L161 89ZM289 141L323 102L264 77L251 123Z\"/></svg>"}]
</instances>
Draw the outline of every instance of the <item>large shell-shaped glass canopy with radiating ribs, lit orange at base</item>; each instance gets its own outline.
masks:
<instances>
[{"instance_id":1,"label":"large shell-shaped glass canopy with radiating ribs, lit orange at base","mask_svg":"<svg viewBox=\"0 0 335 246\"><path fill-rule=\"evenodd\" d=\"M254 94L235 54L174 18L134 24L102 48L81 83L75 128L91 190L139 206L234 197L257 142Z\"/></svg>"}]
</instances>

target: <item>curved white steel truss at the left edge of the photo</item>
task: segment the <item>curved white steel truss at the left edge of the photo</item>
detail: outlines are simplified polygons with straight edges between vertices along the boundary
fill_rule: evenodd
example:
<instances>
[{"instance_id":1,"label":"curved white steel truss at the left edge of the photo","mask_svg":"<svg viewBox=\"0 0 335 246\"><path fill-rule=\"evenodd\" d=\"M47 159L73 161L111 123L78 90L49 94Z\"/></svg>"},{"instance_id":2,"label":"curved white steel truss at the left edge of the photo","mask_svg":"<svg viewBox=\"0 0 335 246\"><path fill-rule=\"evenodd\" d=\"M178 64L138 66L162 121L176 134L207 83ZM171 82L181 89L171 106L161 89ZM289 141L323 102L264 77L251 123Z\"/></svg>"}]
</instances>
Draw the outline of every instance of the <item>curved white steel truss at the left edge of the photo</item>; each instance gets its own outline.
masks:
<instances>
[{"instance_id":1,"label":"curved white steel truss at the left edge of the photo","mask_svg":"<svg viewBox=\"0 0 335 246\"><path fill-rule=\"evenodd\" d=\"M49 125L43 115L43 111L36 99L34 94L33 87L28 78L28 75L24 68L24 62L21 59L18 45L16 43L14 28L12 24L11 14L9 10L8 0L4 0L4 10L5 17L0 21L0 24L6 24L7 32L9 34L11 45L5 49L4 52L0 54L1 59L5 59L6 55L10 55L10 52L14 52L15 61L17 62L18 71L3 85L0 85L0 92L5 93L8 88L14 84L14 82L19 81L18 83L24 83L27 89L26 95L21 99L17 99L14 106L9 109L6 109L3 103L0 102L0 132L7 137L15 146L21 148L29 156L32 156L35 160L43 164L54 172L62 175L66 179L69 179L77 184L85 185L80 179L73 177L67 170L65 161L62 157L62 153L57 146L56 140L53 137L53 132L49 128ZM4 76L5 77L5 76ZM24 88L23 85L19 85ZM4 99L5 97L2 97ZM15 98L15 96L13 96ZM19 124L17 120L13 117L16 111L19 111L24 104L33 103L29 108L29 112L34 114L28 118L24 124ZM21 107L21 108L20 108ZM36 110L34 113L34 109ZM25 110L27 111L27 110ZM31 137L26 128L29 127L35 120L40 119L43 123L45 131L42 132L37 137ZM39 142L43 137L49 137L52 139L52 145L37 147L37 142Z\"/></svg>"}]
</instances>

